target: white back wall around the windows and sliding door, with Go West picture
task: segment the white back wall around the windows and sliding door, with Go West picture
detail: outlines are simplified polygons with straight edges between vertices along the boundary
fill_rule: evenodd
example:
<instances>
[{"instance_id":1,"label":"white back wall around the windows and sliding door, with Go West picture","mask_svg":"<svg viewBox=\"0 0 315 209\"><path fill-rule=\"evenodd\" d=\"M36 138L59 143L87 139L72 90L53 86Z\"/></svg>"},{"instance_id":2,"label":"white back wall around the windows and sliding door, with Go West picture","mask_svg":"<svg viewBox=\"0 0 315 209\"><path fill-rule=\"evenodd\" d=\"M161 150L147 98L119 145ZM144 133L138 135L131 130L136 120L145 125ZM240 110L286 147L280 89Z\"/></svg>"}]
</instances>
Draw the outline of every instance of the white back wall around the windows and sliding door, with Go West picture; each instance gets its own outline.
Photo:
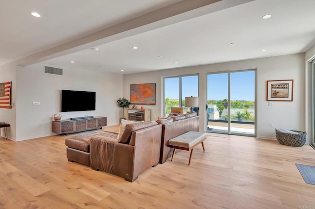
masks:
<instances>
[{"instance_id":1,"label":"white back wall around the windows and sliding door, with Go West picture","mask_svg":"<svg viewBox=\"0 0 315 209\"><path fill-rule=\"evenodd\" d=\"M201 114L206 104L206 73L257 68L257 137L275 139L274 128L305 131L305 54L291 54L211 65L124 75L124 97L130 99L130 84L156 83L156 104L150 105L152 120L162 113L162 77L199 73L200 130L205 131L206 117ZM293 102L266 101L267 80L294 79Z\"/></svg>"}]
</instances>

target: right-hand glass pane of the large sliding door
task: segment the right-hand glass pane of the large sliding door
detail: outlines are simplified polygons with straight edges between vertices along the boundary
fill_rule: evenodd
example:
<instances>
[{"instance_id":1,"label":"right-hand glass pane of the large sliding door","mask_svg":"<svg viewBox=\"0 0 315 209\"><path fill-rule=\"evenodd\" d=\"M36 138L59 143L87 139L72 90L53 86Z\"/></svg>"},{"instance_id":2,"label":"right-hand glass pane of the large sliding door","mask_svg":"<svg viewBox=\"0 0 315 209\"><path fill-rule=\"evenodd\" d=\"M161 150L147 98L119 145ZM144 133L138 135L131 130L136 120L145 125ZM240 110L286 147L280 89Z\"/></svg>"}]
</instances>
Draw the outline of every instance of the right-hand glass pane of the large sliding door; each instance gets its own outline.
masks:
<instances>
[{"instance_id":1,"label":"right-hand glass pane of the large sliding door","mask_svg":"<svg viewBox=\"0 0 315 209\"><path fill-rule=\"evenodd\" d=\"M230 132L255 132L255 71L230 75Z\"/></svg>"}]
</instances>

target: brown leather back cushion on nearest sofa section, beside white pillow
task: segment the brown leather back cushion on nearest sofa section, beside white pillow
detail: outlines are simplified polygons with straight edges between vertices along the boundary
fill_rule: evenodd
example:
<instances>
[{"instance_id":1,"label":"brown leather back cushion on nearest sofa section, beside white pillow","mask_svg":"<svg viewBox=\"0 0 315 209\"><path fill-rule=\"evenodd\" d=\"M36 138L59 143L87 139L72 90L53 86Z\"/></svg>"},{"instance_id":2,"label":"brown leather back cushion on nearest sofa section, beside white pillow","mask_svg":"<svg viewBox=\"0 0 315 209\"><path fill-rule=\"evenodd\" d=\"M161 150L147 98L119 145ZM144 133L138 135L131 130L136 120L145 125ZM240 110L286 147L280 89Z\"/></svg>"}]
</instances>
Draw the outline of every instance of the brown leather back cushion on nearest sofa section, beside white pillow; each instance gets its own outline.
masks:
<instances>
[{"instance_id":1,"label":"brown leather back cushion on nearest sofa section, beside white pillow","mask_svg":"<svg viewBox=\"0 0 315 209\"><path fill-rule=\"evenodd\" d=\"M118 142L129 143L132 131L137 131L140 129L148 128L151 126L156 126L158 123L156 121L146 121L133 124L127 124L125 130L122 132Z\"/></svg>"}]
</instances>

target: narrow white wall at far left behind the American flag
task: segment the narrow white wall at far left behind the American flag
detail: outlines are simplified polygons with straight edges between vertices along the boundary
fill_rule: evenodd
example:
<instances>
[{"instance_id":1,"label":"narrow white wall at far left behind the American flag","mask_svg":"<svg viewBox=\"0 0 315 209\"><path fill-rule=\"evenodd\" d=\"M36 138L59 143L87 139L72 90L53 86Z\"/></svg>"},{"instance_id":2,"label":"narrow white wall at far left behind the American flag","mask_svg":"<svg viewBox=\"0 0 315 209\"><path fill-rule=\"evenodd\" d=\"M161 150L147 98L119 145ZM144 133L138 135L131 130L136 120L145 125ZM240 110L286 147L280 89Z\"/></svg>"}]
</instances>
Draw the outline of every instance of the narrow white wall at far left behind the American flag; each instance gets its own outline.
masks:
<instances>
[{"instance_id":1,"label":"narrow white wall at far left behind the American flag","mask_svg":"<svg viewBox=\"0 0 315 209\"><path fill-rule=\"evenodd\" d=\"M0 66L0 82L12 81L11 84L11 103L16 101L16 64L14 62ZM7 128L8 138L15 140L16 138L16 108L11 109L0 108L0 122L10 124ZM2 129L1 136L4 136Z\"/></svg>"}]
</instances>

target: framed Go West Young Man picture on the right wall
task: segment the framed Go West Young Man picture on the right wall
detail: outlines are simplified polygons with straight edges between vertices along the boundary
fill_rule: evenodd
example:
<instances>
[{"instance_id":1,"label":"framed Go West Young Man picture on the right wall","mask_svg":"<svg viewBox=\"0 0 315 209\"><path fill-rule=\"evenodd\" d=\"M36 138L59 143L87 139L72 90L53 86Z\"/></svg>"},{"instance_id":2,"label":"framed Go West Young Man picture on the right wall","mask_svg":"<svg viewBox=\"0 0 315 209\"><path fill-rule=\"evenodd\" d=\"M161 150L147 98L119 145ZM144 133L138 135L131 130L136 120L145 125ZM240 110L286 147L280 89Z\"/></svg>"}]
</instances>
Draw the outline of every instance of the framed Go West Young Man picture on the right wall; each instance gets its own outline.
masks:
<instances>
[{"instance_id":1,"label":"framed Go West Young Man picture on the right wall","mask_svg":"<svg viewBox=\"0 0 315 209\"><path fill-rule=\"evenodd\" d=\"M293 101L293 80L267 80L267 101Z\"/></svg>"}]
</instances>

